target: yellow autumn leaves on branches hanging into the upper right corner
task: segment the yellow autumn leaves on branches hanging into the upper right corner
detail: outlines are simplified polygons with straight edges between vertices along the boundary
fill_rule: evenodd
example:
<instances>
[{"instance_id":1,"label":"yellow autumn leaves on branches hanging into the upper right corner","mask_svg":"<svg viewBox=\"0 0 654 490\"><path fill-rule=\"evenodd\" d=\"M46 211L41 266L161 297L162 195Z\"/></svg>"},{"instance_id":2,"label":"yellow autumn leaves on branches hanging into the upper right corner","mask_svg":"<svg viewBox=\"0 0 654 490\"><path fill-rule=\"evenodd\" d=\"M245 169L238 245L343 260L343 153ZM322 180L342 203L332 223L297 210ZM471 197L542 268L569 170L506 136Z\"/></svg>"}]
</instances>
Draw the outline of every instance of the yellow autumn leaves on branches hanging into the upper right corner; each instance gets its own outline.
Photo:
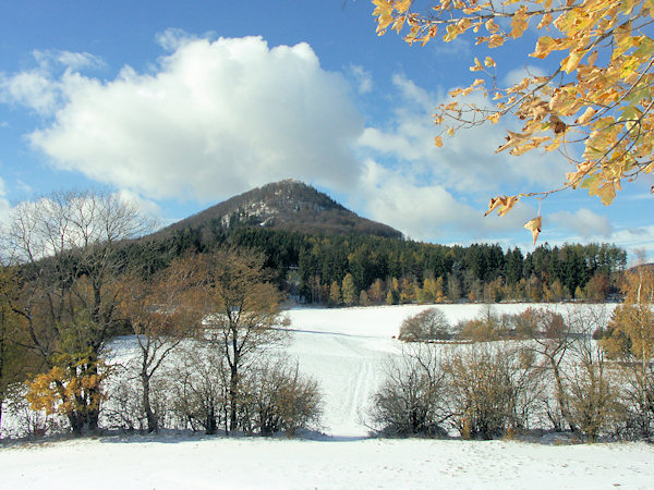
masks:
<instances>
[{"instance_id":1,"label":"yellow autumn leaves on branches hanging into the upper right corner","mask_svg":"<svg viewBox=\"0 0 654 490\"><path fill-rule=\"evenodd\" d=\"M560 57L558 70L506 88L498 87L495 75L485 70L496 66L493 59L482 62L474 58L470 70L492 78L495 107L444 103L435 114L436 124L453 121L447 127L448 135L479 121L495 124L502 118L516 118L522 130L509 132L498 151L520 156L543 146L546 151L560 151L577 167L577 171L566 173L561 187L521 196L542 199L565 188L586 188L609 205L621 189L621 181L654 172L654 40L649 35L652 0L567 0L560 5L552 0L500 0L499 4L440 0L425 12L415 10L417 2L407 0L373 3L380 34L391 23L400 32L405 19L411 20L407 40L421 39L423 44L434 39L438 27L446 29L445 42L485 27L488 35L477 36L476 44L500 48L521 38L532 25L540 35L530 56ZM496 21L507 17L510 27L505 32ZM482 82L450 95L465 96L477 86ZM566 148L580 143L584 146L583 160L573 161L570 155L574 152ZM436 139L436 146L441 145ZM507 199L492 200L489 211L506 213L511 208ZM525 228L535 238L541 222L532 220Z\"/></svg>"}]
</instances>

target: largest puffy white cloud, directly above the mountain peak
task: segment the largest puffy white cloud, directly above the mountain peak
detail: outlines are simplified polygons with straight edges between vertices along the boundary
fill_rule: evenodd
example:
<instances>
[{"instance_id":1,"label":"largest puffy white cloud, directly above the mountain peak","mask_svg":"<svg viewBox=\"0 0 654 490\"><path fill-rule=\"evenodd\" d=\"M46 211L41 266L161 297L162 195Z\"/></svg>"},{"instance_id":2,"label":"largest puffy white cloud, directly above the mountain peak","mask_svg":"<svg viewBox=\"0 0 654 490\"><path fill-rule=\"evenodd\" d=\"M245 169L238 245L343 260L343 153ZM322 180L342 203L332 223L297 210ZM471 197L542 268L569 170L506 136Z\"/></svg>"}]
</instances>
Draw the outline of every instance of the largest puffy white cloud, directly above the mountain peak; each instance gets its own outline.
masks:
<instances>
[{"instance_id":1,"label":"largest puffy white cloud, directly above the mountain peak","mask_svg":"<svg viewBox=\"0 0 654 490\"><path fill-rule=\"evenodd\" d=\"M159 42L174 50L152 73L125 66L102 82L66 70L36 76L28 94L20 84L14 100L58 105L32 144L56 168L148 198L217 199L290 176L351 188L362 117L344 78L322 70L308 45L179 32Z\"/></svg>"}]
</instances>

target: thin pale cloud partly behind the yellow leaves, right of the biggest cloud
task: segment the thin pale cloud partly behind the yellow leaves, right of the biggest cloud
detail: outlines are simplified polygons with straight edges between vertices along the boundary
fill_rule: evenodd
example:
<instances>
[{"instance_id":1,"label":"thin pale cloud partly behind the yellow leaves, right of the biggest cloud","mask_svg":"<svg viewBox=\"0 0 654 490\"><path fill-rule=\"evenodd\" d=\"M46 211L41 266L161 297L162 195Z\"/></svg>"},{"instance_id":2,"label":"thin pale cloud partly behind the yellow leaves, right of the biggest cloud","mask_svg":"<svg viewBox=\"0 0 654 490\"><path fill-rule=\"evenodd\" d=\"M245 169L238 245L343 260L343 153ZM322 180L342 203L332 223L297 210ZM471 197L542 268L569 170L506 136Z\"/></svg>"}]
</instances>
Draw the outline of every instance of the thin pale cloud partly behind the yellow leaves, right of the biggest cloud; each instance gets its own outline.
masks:
<instances>
[{"instance_id":1,"label":"thin pale cloud partly behind the yellow leaves, right of the biggest cloud","mask_svg":"<svg viewBox=\"0 0 654 490\"><path fill-rule=\"evenodd\" d=\"M399 97L397 108L385 126L368 126L359 144L379 158L392 158L409 164L425 180L448 189L483 196L517 192L546 191L561 184L568 163L556 155L534 150L520 158L495 150L504 143L507 124L484 124L459 131L435 148L434 136L440 131L432 114L448 96L434 95L403 75L393 77ZM449 99L449 97L448 97ZM479 94L467 103L489 106Z\"/></svg>"}]
</instances>

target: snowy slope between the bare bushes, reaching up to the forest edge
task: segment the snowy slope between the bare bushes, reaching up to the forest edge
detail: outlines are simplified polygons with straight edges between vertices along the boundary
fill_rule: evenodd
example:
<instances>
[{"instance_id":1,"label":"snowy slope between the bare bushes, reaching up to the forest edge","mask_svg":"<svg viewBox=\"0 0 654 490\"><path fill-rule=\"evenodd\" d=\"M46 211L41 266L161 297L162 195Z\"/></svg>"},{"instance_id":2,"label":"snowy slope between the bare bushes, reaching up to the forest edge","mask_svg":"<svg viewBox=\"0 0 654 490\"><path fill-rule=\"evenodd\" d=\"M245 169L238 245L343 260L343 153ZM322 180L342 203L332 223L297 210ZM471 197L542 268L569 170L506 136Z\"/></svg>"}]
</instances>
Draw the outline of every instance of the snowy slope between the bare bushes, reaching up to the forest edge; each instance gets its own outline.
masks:
<instances>
[{"instance_id":1,"label":"snowy slope between the bare bushes, reaching up to the forest edge","mask_svg":"<svg viewBox=\"0 0 654 490\"><path fill-rule=\"evenodd\" d=\"M383 382L384 363L397 355L398 335L404 318L431 305L402 305L353 308L294 308L288 311L293 340L287 353L298 359L300 371L315 378L324 399L323 430L334 437L366 436L364 418L371 397ZM483 305L438 305L455 326L484 311ZM546 307L560 313L580 305L500 304L497 315L517 314L529 307ZM615 305L591 306L613 310Z\"/></svg>"}]
</instances>

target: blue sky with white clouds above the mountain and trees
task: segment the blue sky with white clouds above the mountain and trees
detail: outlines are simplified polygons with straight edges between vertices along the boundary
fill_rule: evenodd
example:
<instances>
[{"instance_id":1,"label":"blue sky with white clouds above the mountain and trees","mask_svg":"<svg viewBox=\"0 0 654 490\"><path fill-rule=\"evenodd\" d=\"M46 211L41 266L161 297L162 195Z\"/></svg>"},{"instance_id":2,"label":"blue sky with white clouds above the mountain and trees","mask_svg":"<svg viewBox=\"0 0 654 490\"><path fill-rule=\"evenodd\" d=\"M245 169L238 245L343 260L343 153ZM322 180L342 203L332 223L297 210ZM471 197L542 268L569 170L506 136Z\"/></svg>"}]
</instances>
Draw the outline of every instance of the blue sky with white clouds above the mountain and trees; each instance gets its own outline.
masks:
<instances>
[{"instance_id":1,"label":"blue sky with white clouds above the mountain and trees","mask_svg":"<svg viewBox=\"0 0 654 490\"><path fill-rule=\"evenodd\" d=\"M494 196L560 186L569 163L496 154L510 122L436 148L435 108L488 52L470 38L379 37L372 12L367 0L5 2L0 220L23 200L98 188L165 225L298 179L416 241L528 252L523 224L541 207L538 244L609 242L654 258L652 179L609 207L582 189L484 217ZM535 42L528 30L493 50L500 82L556 62L529 58Z\"/></svg>"}]
</instances>

